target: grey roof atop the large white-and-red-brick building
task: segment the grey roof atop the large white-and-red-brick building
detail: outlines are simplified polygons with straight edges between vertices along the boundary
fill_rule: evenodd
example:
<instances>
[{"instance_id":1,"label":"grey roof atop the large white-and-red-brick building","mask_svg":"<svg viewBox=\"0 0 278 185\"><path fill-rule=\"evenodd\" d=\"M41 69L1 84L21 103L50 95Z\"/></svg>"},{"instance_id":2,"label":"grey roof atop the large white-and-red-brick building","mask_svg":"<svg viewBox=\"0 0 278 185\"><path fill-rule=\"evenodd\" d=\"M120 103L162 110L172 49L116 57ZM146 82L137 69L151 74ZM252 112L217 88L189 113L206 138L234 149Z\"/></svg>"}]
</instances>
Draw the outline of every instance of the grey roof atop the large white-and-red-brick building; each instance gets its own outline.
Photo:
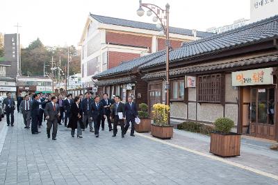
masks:
<instances>
[{"instance_id":1,"label":"grey roof atop the large white-and-red-brick building","mask_svg":"<svg viewBox=\"0 0 278 185\"><path fill-rule=\"evenodd\" d=\"M115 17L106 17L106 16L102 16L102 15L94 15L91 13L90 13L90 16L104 24L113 24L113 25L117 25L117 26L126 26L126 27L131 27L131 28L142 28L142 29L146 29L146 30L158 30L156 28L156 24L149 24L146 22L119 19L119 18L115 18ZM180 35L193 36L192 30L189 30L189 29L170 27L169 31L170 31L170 33L177 33ZM214 35L214 34L197 30L197 37L208 37L211 35Z\"/></svg>"}]
</instances>

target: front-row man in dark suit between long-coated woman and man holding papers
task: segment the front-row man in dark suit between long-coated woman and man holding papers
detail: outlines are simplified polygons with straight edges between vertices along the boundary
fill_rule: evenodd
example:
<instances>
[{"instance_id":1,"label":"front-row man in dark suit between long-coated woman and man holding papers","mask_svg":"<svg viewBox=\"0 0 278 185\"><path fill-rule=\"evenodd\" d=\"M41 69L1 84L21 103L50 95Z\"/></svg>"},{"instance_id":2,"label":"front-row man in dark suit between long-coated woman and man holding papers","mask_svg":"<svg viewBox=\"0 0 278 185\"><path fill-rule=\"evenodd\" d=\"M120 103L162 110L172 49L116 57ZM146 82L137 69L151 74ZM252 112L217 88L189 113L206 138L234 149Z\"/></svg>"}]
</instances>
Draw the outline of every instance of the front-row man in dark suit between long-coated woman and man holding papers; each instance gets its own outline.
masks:
<instances>
[{"instance_id":1,"label":"front-row man in dark suit between long-coated woman and man holding papers","mask_svg":"<svg viewBox=\"0 0 278 185\"><path fill-rule=\"evenodd\" d=\"M94 122L95 136L99 137L99 127L101 123L101 118L106 117L104 105L100 102L100 96L95 96L95 102L91 104L90 108L90 118Z\"/></svg>"}]
</instances>

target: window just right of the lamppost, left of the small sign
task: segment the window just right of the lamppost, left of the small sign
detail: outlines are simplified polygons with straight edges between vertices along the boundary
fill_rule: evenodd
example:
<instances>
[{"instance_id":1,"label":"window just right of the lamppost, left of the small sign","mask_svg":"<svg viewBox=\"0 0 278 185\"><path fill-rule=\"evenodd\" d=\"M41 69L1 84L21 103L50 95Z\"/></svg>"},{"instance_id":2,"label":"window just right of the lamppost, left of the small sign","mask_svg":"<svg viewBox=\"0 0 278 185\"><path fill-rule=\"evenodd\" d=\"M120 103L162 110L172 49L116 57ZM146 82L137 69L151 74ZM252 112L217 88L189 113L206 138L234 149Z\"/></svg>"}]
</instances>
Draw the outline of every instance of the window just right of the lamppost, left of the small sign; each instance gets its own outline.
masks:
<instances>
[{"instance_id":1,"label":"window just right of the lamppost, left of the small sign","mask_svg":"<svg viewBox=\"0 0 278 185\"><path fill-rule=\"evenodd\" d=\"M172 80L171 81L171 98L173 100L183 100L184 99L184 80Z\"/></svg>"}]
</instances>

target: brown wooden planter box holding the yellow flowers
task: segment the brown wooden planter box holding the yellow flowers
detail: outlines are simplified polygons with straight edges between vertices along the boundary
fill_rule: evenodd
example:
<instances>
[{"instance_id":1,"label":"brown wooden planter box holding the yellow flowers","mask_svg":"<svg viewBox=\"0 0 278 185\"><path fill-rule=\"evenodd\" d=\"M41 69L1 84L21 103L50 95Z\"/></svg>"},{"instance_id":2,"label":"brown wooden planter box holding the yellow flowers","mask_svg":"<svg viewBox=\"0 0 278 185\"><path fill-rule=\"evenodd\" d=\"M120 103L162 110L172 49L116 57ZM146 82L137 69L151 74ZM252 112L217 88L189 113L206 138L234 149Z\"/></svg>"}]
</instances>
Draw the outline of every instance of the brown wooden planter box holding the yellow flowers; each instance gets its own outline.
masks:
<instances>
[{"instance_id":1,"label":"brown wooden planter box holding the yellow flowers","mask_svg":"<svg viewBox=\"0 0 278 185\"><path fill-rule=\"evenodd\" d=\"M160 139L171 139L173 136L173 126L163 127L151 125L151 134Z\"/></svg>"}]
</instances>

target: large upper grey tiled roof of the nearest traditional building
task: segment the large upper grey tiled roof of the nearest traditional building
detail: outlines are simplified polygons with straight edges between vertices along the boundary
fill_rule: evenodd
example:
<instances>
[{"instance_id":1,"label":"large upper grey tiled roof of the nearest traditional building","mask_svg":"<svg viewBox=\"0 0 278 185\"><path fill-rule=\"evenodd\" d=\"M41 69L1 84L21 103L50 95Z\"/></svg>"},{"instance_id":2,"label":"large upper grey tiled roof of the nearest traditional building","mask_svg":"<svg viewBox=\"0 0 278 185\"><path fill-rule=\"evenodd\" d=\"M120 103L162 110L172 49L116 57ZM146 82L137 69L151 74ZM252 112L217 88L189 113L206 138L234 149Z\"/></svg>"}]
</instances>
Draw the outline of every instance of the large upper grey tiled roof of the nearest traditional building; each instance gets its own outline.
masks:
<instances>
[{"instance_id":1,"label":"large upper grey tiled roof of the nearest traditional building","mask_svg":"<svg viewBox=\"0 0 278 185\"><path fill-rule=\"evenodd\" d=\"M186 42L181 48L170 52L170 62L186 60L196 55L231 49L236 46L261 42L276 37L278 37L278 15L218 35ZM157 58L142 65L140 69L158 66L163 63L165 63L165 58Z\"/></svg>"}]
</instances>

